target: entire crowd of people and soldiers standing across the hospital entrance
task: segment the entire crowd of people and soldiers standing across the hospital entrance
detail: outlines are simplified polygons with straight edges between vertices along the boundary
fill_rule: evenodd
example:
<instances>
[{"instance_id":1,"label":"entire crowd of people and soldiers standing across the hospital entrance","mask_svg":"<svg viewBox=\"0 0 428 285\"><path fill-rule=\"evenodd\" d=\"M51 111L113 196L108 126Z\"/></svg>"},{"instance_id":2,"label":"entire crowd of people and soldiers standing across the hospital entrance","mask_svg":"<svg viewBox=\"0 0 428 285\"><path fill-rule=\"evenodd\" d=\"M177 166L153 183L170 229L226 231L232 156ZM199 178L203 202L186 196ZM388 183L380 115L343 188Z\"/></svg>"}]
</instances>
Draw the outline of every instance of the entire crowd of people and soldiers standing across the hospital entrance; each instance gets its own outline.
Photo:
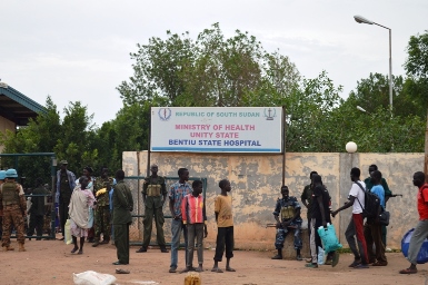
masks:
<instances>
[{"instance_id":1,"label":"entire crowd of people and soldiers standing across the hospital entrance","mask_svg":"<svg viewBox=\"0 0 428 285\"><path fill-rule=\"evenodd\" d=\"M92 177L91 167L83 168L83 175L76 179L72 171L67 169L67 160L60 161L60 170L57 171L56 203L59 208L59 224L62 238L66 230L70 230L73 248L71 253L82 254L84 242L93 243L97 247L108 244L110 239L116 245L118 261L115 265L129 264L129 226L132 223L133 199L129 186L125 183L125 171L117 170L115 178L109 177L108 168L102 167L100 177ZM185 237L185 268L180 273L203 271L203 238L208 236L206 203L202 196L202 181L189 181L189 170L180 168L179 179L167 190L166 179L158 176L158 166L151 165L151 175L145 179L142 187L142 202L145 204L143 239L142 246L137 253L148 250L152 223L157 228L157 242L161 253L169 253L163 235L163 205L168 200L171 213L171 263L169 273L176 273L178 268L178 249L181 233ZM307 208L310 258L306 267L318 268L319 250L322 248L318 228L331 224L331 218L339 212L352 208L349 225L345 232L349 248L354 254L352 268L369 268L369 266L387 266L386 226L376 218L365 220L365 196L371 191L380 200L381 210L386 210L387 202L394 197L386 179L376 165L369 167L369 177L360 179L360 169L354 167L350 170L352 186L348 200L344 206L332 209L331 197L322 178L317 171L309 175L310 184L303 188L300 200ZM4 252L14 250L10 243L12 227L17 233L19 250L24 252L24 220L27 216L27 203L22 186L17 183L16 169L0 171L0 217L2 218L1 246ZM412 183L418 187L417 208L419 223L410 239L408 261L410 266L400 271L400 274L417 273L417 255L428 234L428 184L424 173L414 174ZM216 239L216 253L213 256L212 272L222 273L219 263L226 253L226 271L235 272L230 266L233 257L233 215L230 181L219 181L220 194L215 199L215 215L218 226ZM37 239L43 232L43 216L46 215L44 195L47 190L42 180L37 179L37 187L32 191L30 223L27 235L31 238L34 230ZM276 203L273 217L276 219L277 235L275 247L277 255L272 259L282 259L282 249L286 237L293 234L293 247L296 259L301 261L301 206L298 199L289 195L287 186L281 187L281 198ZM67 229L66 229L67 228ZM102 239L101 239L102 236ZM79 237L79 244L78 244ZM87 240L86 240L87 239ZM198 266L193 267L195 243L197 245ZM339 253L329 252L325 264L336 266L339 262Z\"/></svg>"}]
</instances>

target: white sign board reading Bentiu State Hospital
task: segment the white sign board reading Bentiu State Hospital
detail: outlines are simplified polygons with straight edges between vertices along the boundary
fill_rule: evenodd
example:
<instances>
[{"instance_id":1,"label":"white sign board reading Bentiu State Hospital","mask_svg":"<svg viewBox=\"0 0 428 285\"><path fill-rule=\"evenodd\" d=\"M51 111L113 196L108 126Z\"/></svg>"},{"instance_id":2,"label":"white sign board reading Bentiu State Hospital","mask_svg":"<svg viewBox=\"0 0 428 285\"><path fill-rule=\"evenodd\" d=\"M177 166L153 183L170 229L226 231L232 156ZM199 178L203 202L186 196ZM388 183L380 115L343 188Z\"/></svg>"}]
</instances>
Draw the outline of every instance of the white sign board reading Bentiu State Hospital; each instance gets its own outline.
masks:
<instances>
[{"instance_id":1,"label":"white sign board reading Bentiu State Hospital","mask_svg":"<svg viewBox=\"0 0 428 285\"><path fill-rule=\"evenodd\" d=\"M152 107L151 151L281 153L281 107Z\"/></svg>"}]
</instances>

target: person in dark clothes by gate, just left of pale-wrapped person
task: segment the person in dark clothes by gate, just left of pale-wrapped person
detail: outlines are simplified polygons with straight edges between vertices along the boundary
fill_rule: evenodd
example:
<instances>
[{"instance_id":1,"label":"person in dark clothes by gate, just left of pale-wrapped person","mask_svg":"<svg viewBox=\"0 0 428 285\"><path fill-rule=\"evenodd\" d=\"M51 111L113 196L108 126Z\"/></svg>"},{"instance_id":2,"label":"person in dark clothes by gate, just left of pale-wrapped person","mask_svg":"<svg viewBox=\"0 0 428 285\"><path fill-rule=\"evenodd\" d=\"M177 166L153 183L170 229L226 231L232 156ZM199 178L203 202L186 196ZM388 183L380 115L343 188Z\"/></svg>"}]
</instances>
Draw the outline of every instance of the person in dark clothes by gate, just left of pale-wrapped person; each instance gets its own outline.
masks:
<instances>
[{"instance_id":1,"label":"person in dark clothes by gate, just left of pale-wrapped person","mask_svg":"<svg viewBox=\"0 0 428 285\"><path fill-rule=\"evenodd\" d=\"M59 206L59 218L62 233L62 238L60 238L60 240L63 240L66 234L64 226L68 219L70 198L76 187L76 175L72 171L67 170L67 160L61 160L59 165L60 170L57 171L56 203L58 203Z\"/></svg>"}]
</instances>

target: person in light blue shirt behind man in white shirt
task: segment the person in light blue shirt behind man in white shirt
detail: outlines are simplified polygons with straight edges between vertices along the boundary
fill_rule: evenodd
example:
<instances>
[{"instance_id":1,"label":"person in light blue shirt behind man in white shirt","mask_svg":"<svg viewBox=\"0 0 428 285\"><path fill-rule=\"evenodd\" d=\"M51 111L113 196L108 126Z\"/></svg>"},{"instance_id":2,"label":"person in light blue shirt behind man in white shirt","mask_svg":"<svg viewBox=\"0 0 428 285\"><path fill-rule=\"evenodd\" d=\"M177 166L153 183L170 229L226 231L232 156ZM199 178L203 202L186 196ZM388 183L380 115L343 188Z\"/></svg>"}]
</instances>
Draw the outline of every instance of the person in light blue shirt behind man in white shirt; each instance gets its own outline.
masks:
<instances>
[{"instance_id":1,"label":"person in light blue shirt behind man in white shirt","mask_svg":"<svg viewBox=\"0 0 428 285\"><path fill-rule=\"evenodd\" d=\"M380 206L385 210L385 189L381 185L382 174L379 170L375 170L370 174L372 187L371 193L380 199ZM382 229L381 225L377 220L367 220L365 224L365 237L367 243L367 254L369 257L369 263L372 266L387 266L388 261L385 255L385 244L382 242ZM376 247L376 253L374 253L374 245Z\"/></svg>"}]
</instances>

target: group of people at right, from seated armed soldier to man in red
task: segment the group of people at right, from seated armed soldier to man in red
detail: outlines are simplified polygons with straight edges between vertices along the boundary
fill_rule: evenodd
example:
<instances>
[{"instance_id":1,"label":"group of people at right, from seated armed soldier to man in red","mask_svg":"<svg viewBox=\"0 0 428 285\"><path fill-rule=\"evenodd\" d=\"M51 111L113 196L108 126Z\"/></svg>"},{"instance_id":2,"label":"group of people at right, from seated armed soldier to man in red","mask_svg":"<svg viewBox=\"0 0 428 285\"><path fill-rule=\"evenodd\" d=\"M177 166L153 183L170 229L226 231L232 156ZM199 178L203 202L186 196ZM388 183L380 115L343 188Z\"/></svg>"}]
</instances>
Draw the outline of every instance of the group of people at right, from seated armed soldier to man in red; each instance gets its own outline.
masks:
<instances>
[{"instance_id":1,"label":"group of people at right, from seated armed soldier to man in red","mask_svg":"<svg viewBox=\"0 0 428 285\"><path fill-rule=\"evenodd\" d=\"M349 265L351 268L364 269L370 266L387 266L388 259L386 252L387 228L378 218L365 218L365 196L366 191L375 194L380 202L380 213L386 210L387 202L394 197L386 179L378 170L376 165L370 165L369 177L364 181L360 179L361 171L354 167L350 170L352 186L349 190L348 200L338 209L331 209L331 198L327 187L322 184L321 176L317 171L310 173L310 185L303 188L300 196L301 203L307 208L308 233L311 258L307 259L306 267L318 268L319 249L322 249L321 238L318 234L319 227L327 228L331 224L331 217L347 208L352 208L352 216L345 232L346 240L354 254L354 262ZM417 208L419 213L419 223L410 239L407 259L410 266L400 271L400 274L417 273L417 256L424 240L428 235L428 184L426 175L421 171L414 174L412 183L418 187ZM277 220L277 236L275 246L278 254L272 259L282 259L282 247L285 237L288 233L295 234L293 246L297 252L297 259L300 261L301 249L301 206L296 197L289 196L287 186L281 187L282 198L278 199L273 216ZM339 262L339 254L330 252L327 255L326 265L336 266Z\"/></svg>"}]
</instances>

